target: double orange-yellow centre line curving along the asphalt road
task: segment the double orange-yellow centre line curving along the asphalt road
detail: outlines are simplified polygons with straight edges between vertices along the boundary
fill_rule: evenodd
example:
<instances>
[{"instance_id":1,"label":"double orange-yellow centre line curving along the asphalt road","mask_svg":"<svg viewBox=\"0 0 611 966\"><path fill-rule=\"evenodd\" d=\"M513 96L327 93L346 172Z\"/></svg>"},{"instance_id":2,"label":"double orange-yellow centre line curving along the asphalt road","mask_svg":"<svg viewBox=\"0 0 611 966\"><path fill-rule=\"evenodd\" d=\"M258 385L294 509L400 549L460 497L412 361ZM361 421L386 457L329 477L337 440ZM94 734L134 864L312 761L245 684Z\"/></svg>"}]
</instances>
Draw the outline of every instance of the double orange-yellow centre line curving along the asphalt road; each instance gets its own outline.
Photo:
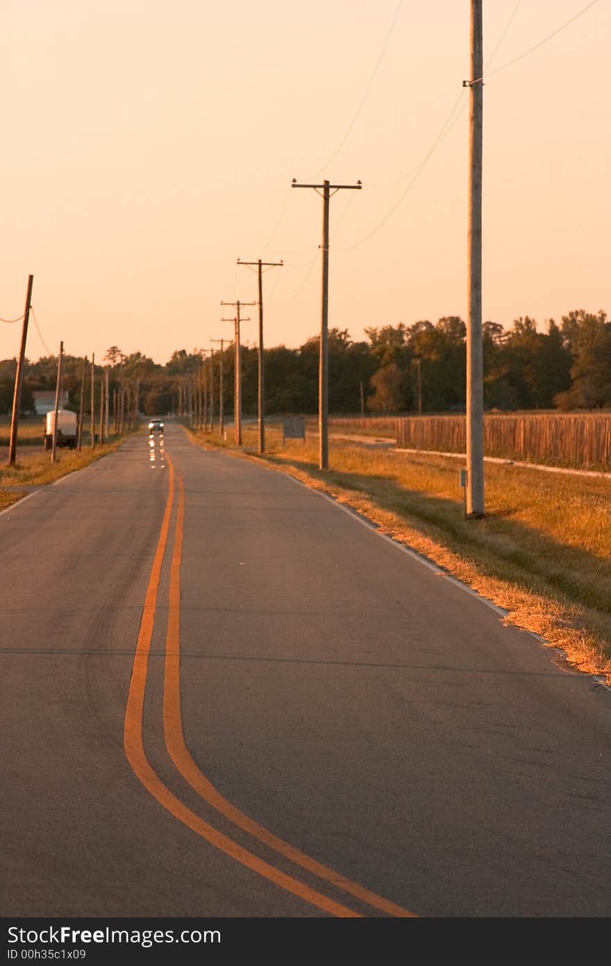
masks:
<instances>
[{"instance_id":1,"label":"double orange-yellow centre line curving along the asphalt road","mask_svg":"<svg viewBox=\"0 0 611 966\"><path fill-rule=\"evenodd\" d=\"M167 453L166 461L170 470L169 492L163 521L161 523L159 540L153 558L149 585L147 587L125 708L124 746L127 760L137 778L164 809L170 811L184 825L188 826L188 828L192 829L193 832L202 838L206 838L216 848L219 848L233 859L236 859L243 866L263 875L264 878L274 882L282 889L287 890L293 895L298 895L312 905L317 906L325 913L343 918L360 918L360 913L354 912L342 903L312 889L310 886L299 881L299 879L264 862L263 859L248 851L248 849L243 848L232 838L223 835L209 825L198 814L187 808L167 785L161 781L147 758L143 739L143 717L149 654L151 641L153 639L153 625L161 568L168 543L172 507L177 489L174 464ZM263 842L264 845L273 849L279 855L289 859L294 865L314 873L319 878L331 883L336 889L340 889L348 895L352 895L366 902L382 913L396 917L416 917L415 913L403 909L402 906L390 902L380 895L375 895L375 893L358 885L358 883L351 882L332 868L311 859L299 849L293 848L288 842L285 842L282 838L278 838L272 832L269 832L263 826L253 821L253 819L249 818L248 815L237 809L235 805L232 805L231 802L221 795L200 771L189 753L184 742L181 716L181 557L184 526L184 487L181 476L178 478L178 491L176 532L170 564L169 607L163 682L163 731L166 748L172 761L185 781L198 792L209 806L230 819L237 828L242 829L252 838Z\"/></svg>"}]
</instances>

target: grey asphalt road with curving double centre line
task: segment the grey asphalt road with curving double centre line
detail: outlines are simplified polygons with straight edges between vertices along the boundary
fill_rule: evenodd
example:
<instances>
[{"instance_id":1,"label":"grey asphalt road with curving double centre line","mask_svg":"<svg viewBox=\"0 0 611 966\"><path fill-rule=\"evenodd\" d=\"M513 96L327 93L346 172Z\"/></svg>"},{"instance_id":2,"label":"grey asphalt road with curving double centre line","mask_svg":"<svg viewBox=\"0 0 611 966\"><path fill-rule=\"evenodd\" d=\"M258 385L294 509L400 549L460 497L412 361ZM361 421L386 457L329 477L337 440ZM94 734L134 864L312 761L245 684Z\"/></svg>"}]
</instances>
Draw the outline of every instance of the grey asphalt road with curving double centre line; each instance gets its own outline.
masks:
<instances>
[{"instance_id":1,"label":"grey asphalt road with curving double centre line","mask_svg":"<svg viewBox=\"0 0 611 966\"><path fill-rule=\"evenodd\" d=\"M608 917L611 693L166 424L0 515L0 915Z\"/></svg>"}]
</instances>

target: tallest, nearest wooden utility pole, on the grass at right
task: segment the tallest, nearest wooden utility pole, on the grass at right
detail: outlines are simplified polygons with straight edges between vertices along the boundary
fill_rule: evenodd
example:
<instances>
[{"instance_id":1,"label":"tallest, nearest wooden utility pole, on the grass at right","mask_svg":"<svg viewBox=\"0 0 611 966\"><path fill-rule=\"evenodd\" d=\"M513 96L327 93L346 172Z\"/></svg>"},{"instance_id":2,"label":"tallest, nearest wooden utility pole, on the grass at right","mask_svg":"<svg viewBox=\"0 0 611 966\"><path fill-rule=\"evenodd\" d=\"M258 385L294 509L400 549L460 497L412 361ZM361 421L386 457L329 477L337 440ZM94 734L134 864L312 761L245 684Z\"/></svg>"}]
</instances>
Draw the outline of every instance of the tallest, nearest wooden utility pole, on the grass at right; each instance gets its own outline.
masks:
<instances>
[{"instance_id":1,"label":"tallest, nearest wooden utility pole, on the grass at right","mask_svg":"<svg viewBox=\"0 0 611 966\"><path fill-rule=\"evenodd\" d=\"M469 118L468 324L466 385L467 517L485 516L484 359L482 338L482 156L484 114L482 0L471 0L471 94Z\"/></svg>"}]
</instances>

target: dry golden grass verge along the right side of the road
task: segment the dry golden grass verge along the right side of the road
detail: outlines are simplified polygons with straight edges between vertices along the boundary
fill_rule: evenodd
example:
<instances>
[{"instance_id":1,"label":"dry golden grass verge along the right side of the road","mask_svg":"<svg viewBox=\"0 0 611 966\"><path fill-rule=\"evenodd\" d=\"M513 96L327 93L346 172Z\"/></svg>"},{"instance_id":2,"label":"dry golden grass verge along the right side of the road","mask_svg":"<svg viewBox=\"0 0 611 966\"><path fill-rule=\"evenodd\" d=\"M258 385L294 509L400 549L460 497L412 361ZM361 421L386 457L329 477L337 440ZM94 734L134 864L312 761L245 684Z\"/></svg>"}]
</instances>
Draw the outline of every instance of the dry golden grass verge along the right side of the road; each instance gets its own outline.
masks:
<instances>
[{"instance_id":1,"label":"dry golden grass verge along the right side of the road","mask_svg":"<svg viewBox=\"0 0 611 966\"><path fill-rule=\"evenodd\" d=\"M236 449L347 503L381 532L424 554L507 611L513 623L560 648L569 665L611 684L611 474L561 474L486 462L486 517L467 519L463 463L330 440L318 469L318 440L282 442L246 427ZM229 434L228 434L229 438Z\"/></svg>"}]
</instances>

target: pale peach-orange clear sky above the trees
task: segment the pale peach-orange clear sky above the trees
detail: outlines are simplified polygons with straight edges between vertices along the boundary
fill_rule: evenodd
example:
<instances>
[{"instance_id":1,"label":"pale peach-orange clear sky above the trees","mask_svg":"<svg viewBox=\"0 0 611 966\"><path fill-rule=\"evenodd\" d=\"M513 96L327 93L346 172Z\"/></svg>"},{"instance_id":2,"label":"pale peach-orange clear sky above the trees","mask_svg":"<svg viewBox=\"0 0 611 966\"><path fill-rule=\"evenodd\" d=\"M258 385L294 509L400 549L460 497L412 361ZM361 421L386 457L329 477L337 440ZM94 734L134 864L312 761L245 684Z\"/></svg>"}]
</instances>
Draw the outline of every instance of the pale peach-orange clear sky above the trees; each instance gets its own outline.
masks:
<instances>
[{"instance_id":1,"label":"pale peach-orange clear sky above the trees","mask_svg":"<svg viewBox=\"0 0 611 966\"><path fill-rule=\"evenodd\" d=\"M586 9L587 8L587 9ZM470 0L2 0L0 317L26 355L467 318ZM583 13L581 13L583 11ZM572 22L569 22L572 21ZM565 24L568 24L565 27ZM562 28L562 29L561 29ZM611 0L484 0L483 318L611 312ZM21 323L0 323L0 358Z\"/></svg>"}]
</instances>

